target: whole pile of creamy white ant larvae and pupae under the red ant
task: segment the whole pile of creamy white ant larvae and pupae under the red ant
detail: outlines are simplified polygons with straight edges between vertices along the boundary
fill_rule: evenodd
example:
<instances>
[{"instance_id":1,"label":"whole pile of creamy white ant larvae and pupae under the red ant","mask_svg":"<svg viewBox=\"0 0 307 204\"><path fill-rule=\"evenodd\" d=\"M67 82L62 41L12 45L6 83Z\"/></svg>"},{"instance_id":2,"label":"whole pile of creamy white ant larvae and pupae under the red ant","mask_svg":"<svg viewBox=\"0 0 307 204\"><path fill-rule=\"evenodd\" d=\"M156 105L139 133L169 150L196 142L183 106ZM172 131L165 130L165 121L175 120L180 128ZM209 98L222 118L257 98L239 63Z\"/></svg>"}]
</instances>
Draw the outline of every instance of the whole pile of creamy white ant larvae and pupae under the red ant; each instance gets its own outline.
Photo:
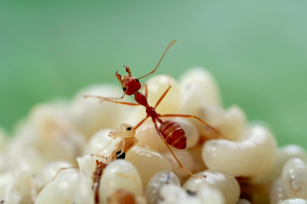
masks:
<instances>
[{"instance_id":1,"label":"whole pile of creamy white ant larvae and pupae under the red ant","mask_svg":"<svg viewBox=\"0 0 307 204\"><path fill-rule=\"evenodd\" d=\"M157 113L196 115L221 133L195 118L162 118L184 129L186 149L171 149L195 177L179 166L148 118L126 158L103 169L95 192L96 160L116 147L109 133L146 116L143 106L83 97L123 94L120 86L97 85L72 100L34 106L11 137L0 132L0 203L95 204L99 196L100 204L307 204L304 148L278 147L270 130L248 123L238 106L224 109L205 69L189 69L179 81L155 75L146 84L153 107L171 84Z\"/></svg>"}]
</instances>

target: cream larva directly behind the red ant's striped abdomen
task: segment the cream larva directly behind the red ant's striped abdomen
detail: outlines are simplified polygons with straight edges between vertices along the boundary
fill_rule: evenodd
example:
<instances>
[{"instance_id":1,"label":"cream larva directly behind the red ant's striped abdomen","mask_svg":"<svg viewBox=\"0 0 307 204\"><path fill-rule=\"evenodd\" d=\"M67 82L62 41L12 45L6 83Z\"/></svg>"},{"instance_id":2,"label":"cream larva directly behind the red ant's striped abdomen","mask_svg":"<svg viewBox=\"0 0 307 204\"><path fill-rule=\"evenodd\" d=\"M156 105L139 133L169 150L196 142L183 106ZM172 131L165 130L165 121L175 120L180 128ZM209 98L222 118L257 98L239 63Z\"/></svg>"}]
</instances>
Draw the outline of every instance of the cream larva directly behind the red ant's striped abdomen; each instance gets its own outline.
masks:
<instances>
[{"instance_id":1,"label":"cream larva directly behind the red ant's striped abdomen","mask_svg":"<svg viewBox=\"0 0 307 204\"><path fill-rule=\"evenodd\" d=\"M163 120L173 120L179 123L186 135L186 149L197 145L200 138L199 131L189 119L182 117L163 117ZM158 136L154 129L153 121L150 119L137 129L135 136L139 140L139 146L148 146L159 152L169 151L162 139Z\"/></svg>"}]
</instances>

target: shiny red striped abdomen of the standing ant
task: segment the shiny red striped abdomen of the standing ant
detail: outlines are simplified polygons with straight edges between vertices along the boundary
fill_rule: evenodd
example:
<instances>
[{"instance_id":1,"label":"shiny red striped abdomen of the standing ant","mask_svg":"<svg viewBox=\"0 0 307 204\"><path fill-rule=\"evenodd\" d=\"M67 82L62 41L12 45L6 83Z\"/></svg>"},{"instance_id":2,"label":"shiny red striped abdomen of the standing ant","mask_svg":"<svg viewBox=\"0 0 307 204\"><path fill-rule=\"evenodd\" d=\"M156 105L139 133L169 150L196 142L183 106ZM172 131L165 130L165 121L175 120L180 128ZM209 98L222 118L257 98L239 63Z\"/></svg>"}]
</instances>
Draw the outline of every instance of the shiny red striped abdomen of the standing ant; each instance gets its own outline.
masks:
<instances>
[{"instance_id":1,"label":"shiny red striped abdomen of the standing ant","mask_svg":"<svg viewBox=\"0 0 307 204\"><path fill-rule=\"evenodd\" d=\"M172 120L166 120L160 125L159 131L166 142L172 147L175 147L176 149L186 148L185 132L179 123Z\"/></svg>"}]
</instances>

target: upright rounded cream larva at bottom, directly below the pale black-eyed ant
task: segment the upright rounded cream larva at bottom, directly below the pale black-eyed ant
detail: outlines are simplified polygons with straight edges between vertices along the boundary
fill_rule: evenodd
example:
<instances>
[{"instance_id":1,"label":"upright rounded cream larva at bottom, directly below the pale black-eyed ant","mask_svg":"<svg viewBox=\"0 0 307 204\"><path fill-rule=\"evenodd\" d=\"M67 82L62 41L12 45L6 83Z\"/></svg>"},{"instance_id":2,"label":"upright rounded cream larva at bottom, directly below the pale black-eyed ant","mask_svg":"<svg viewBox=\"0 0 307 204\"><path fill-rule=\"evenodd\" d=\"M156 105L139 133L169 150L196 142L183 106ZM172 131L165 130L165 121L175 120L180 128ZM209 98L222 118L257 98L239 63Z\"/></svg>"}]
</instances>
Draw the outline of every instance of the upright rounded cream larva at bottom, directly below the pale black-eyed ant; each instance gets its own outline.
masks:
<instances>
[{"instance_id":1,"label":"upright rounded cream larva at bottom, directly below the pale black-eyed ant","mask_svg":"<svg viewBox=\"0 0 307 204\"><path fill-rule=\"evenodd\" d=\"M111 162L104 169L99 188L101 203L106 203L107 198L119 189L128 191L134 196L143 195L143 185L139 173L129 161L123 159Z\"/></svg>"}]
</instances>

